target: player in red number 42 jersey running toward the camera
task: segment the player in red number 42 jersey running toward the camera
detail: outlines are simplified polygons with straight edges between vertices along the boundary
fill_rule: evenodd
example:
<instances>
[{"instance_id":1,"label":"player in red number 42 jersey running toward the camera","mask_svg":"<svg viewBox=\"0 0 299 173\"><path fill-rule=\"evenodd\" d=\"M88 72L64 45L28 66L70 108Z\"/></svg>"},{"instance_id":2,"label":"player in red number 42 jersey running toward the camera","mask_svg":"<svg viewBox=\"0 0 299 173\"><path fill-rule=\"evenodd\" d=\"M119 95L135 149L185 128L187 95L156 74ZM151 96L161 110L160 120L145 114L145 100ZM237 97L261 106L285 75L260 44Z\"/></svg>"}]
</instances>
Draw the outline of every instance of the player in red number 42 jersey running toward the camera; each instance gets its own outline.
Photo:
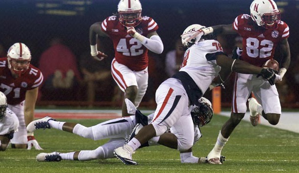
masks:
<instances>
[{"instance_id":1,"label":"player in red number 42 jersey running toward the camera","mask_svg":"<svg viewBox=\"0 0 299 173\"><path fill-rule=\"evenodd\" d=\"M115 58L111 73L117 85L125 92L125 98L138 107L148 87L148 51L161 54L164 47L156 30L158 24L150 17L141 16L139 0L121 0L118 16L110 16L103 22L91 25L89 41L91 55L102 60L107 55L97 49L97 36L110 37ZM127 116L125 101L123 116Z\"/></svg>"}]
</instances>

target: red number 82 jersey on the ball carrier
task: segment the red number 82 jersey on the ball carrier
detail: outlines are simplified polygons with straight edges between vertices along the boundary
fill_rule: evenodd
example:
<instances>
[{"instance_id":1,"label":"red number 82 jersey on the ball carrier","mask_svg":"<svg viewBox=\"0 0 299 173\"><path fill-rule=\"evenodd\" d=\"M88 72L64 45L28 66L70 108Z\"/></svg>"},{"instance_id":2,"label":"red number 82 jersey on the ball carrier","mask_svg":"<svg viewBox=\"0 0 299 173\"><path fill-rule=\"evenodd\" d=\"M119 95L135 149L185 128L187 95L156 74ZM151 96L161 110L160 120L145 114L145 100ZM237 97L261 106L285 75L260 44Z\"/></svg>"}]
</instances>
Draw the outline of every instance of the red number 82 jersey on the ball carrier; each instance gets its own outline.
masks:
<instances>
[{"instance_id":1,"label":"red number 82 jersey on the ball carrier","mask_svg":"<svg viewBox=\"0 0 299 173\"><path fill-rule=\"evenodd\" d=\"M262 66L273 59L277 44L289 37L289 26L280 21L277 29L257 26L247 14L239 15L233 22L233 29L243 38L241 60Z\"/></svg>"}]
</instances>

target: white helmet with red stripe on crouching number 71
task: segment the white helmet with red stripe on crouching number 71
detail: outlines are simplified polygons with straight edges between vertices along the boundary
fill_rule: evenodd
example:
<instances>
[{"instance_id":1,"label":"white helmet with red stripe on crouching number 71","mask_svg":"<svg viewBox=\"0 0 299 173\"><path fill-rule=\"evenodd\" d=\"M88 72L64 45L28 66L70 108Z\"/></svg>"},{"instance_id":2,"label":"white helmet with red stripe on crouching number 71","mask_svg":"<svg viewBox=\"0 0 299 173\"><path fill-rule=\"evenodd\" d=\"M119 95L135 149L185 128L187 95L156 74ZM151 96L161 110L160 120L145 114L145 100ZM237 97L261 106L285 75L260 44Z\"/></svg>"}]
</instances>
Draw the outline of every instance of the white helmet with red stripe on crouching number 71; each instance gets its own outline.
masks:
<instances>
[{"instance_id":1,"label":"white helmet with red stripe on crouching number 71","mask_svg":"<svg viewBox=\"0 0 299 173\"><path fill-rule=\"evenodd\" d=\"M24 43L14 43L7 52L8 68L21 75L30 65L31 53Z\"/></svg>"}]
</instances>

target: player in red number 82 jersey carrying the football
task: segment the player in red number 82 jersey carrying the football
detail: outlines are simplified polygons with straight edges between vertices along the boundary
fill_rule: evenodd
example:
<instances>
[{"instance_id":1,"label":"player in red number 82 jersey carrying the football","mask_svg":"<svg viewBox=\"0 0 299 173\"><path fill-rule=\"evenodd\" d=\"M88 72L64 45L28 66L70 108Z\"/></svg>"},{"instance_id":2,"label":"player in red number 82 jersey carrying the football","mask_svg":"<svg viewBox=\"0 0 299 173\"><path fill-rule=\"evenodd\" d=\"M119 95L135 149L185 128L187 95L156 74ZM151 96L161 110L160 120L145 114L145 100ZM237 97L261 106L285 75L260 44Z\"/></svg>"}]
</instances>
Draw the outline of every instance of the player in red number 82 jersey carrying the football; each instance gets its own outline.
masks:
<instances>
[{"instance_id":1,"label":"player in red number 82 jersey carrying the football","mask_svg":"<svg viewBox=\"0 0 299 173\"><path fill-rule=\"evenodd\" d=\"M288 43L289 27L280 20L280 12L273 0L253 0L250 15L238 16L233 24L203 28L199 34L206 35L212 32L216 35L238 33L243 38L243 52L240 59L257 66L262 66L267 60L273 59L275 48L279 45L283 60L275 82L282 80L291 59ZM249 99L251 124L257 125L259 114L272 125L278 123L281 106L275 85L271 86L255 75L236 73L231 116L223 125L217 142L208 155L210 163L221 164L219 162L221 151L232 131L244 117L251 91L261 104L254 98Z\"/></svg>"}]
</instances>

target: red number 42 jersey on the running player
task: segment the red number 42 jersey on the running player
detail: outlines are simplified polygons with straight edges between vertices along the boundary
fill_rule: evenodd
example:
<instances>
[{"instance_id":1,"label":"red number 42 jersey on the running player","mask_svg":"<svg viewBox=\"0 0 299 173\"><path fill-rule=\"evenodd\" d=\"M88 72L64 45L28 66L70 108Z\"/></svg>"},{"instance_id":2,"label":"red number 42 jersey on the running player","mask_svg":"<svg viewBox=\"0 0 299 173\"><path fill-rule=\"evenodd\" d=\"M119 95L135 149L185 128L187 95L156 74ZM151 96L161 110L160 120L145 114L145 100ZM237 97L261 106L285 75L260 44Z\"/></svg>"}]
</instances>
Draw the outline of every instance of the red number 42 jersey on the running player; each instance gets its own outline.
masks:
<instances>
[{"instance_id":1,"label":"red number 42 jersey on the running player","mask_svg":"<svg viewBox=\"0 0 299 173\"><path fill-rule=\"evenodd\" d=\"M158 24L152 18L144 16L140 24L134 28L139 34L147 37L150 32L158 29ZM112 39L118 63L133 71L141 71L148 66L148 49L126 33L125 26L119 22L117 16L106 18L101 24L101 29Z\"/></svg>"}]
</instances>

